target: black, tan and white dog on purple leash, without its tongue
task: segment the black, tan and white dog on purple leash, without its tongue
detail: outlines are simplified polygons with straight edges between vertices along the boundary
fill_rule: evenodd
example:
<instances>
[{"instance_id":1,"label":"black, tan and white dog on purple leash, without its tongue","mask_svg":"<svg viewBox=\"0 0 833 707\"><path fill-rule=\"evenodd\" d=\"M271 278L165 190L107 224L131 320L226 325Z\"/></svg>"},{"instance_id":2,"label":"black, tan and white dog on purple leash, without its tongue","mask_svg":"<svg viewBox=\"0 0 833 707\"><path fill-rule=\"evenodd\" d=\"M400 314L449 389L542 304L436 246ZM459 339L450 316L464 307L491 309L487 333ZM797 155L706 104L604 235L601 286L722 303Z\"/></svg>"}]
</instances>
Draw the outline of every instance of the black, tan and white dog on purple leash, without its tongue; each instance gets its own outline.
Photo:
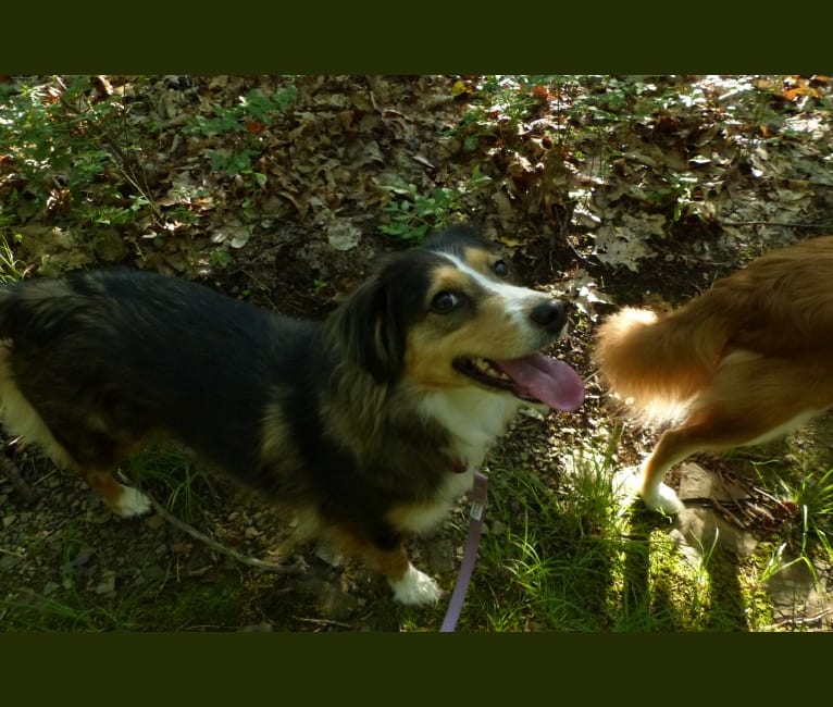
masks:
<instances>
[{"instance_id":1,"label":"black, tan and white dog on purple leash, without its tongue","mask_svg":"<svg viewBox=\"0 0 833 707\"><path fill-rule=\"evenodd\" d=\"M403 533L442 520L521 405L508 383L461 374L460 357L532 355L567 321L497 262L453 228L389 257L324 322L129 270L4 285L4 422L123 516L147 499L111 472L149 436L172 437L381 570L399 600L436 600ZM523 322L490 314L509 300Z\"/></svg>"}]
</instances>

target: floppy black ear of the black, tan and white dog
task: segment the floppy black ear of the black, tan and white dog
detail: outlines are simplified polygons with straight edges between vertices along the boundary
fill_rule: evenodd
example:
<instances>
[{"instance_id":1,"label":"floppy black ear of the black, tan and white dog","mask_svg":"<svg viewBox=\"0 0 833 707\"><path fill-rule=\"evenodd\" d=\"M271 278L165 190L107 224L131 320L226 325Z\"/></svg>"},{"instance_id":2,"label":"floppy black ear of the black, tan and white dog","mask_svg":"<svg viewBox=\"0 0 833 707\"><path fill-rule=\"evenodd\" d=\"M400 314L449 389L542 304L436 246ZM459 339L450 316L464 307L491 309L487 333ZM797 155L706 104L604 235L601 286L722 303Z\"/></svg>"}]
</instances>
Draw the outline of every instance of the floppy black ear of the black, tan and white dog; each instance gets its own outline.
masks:
<instances>
[{"instance_id":1,"label":"floppy black ear of the black, tan and white dog","mask_svg":"<svg viewBox=\"0 0 833 707\"><path fill-rule=\"evenodd\" d=\"M377 383L393 384L405 365L406 325L390 272L377 271L341 303L336 335L345 355Z\"/></svg>"}]
</instances>

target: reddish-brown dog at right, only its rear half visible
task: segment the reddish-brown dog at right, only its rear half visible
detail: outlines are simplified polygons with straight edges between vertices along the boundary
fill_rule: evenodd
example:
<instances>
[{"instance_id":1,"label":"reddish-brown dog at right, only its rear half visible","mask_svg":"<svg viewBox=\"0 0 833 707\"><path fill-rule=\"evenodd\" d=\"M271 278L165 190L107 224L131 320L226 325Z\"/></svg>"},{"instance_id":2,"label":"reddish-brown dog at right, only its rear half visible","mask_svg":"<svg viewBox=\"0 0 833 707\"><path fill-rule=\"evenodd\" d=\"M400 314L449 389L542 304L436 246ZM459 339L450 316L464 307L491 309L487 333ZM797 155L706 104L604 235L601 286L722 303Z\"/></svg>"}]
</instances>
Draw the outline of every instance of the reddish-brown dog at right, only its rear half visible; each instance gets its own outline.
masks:
<instances>
[{"instance_id":1,"label":"reddish-brown dog at right, only its rear half visible","mask_svg":"<svg viewBox=\"0 0 833 707\"><path fill-rule=\"evenodd\" d=\"M780 436L833 406L833 236L770 252L671 313L622 309L596 344L610 388L644 420L672 424L636 493L677 512L662 483L673 464Z\"/></svg>"}]
</instances>

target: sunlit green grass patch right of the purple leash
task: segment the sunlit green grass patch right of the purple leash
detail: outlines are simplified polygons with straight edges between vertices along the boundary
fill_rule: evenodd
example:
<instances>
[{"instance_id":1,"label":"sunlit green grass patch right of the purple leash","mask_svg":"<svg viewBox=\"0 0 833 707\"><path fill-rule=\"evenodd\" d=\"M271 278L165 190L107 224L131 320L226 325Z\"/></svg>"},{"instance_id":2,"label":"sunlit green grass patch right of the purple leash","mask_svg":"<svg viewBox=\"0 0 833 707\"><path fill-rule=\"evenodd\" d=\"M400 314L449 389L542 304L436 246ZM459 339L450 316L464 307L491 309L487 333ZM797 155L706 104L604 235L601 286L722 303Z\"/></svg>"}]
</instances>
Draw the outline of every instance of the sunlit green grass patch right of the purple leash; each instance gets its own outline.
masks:
<instances>
[{"instance_id":1,"label":"sunlit green grass patch right of the purple leash","mask_svg":"<svg viewBox=\"0 0 833 707\"><path fill-rule=\"evenodd\" d=\"M768 579L796 562L812 568L816 557L833 559L833 472L797 474L794 485L767 479L801 512L751 557L738 558L716 542L683 553L670 519L638 504L619 506L611 471L609 448L575 459L557 484L493 466L490 533L460 630L766 630Z\"/></svg>"}]
</instances>

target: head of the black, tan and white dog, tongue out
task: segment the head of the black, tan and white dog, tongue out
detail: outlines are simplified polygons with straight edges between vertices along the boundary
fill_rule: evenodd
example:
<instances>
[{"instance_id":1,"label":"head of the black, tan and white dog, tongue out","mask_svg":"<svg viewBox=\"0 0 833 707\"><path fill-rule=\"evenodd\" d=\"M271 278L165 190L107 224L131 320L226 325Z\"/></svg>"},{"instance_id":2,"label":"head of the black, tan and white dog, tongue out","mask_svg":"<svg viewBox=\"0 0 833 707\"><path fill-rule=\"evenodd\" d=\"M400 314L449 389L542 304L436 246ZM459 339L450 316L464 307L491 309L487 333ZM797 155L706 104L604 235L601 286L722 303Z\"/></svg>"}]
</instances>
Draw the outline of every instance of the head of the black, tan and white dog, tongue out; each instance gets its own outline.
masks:
<instances>
[{"instance_id":1,"label":"head of the black, tan and white dog, tongue out","mask_svg":"<svg viewBox=\"0 0 833 707\"><path fill-rule=\"evenodd\" d=\"M382 384L477 386L575 409L584 387L540 354L567 326L567 306L510 283L506 260L456 226L385 260L336 317L347 355Z\"/></svg>"}]
</instances>

